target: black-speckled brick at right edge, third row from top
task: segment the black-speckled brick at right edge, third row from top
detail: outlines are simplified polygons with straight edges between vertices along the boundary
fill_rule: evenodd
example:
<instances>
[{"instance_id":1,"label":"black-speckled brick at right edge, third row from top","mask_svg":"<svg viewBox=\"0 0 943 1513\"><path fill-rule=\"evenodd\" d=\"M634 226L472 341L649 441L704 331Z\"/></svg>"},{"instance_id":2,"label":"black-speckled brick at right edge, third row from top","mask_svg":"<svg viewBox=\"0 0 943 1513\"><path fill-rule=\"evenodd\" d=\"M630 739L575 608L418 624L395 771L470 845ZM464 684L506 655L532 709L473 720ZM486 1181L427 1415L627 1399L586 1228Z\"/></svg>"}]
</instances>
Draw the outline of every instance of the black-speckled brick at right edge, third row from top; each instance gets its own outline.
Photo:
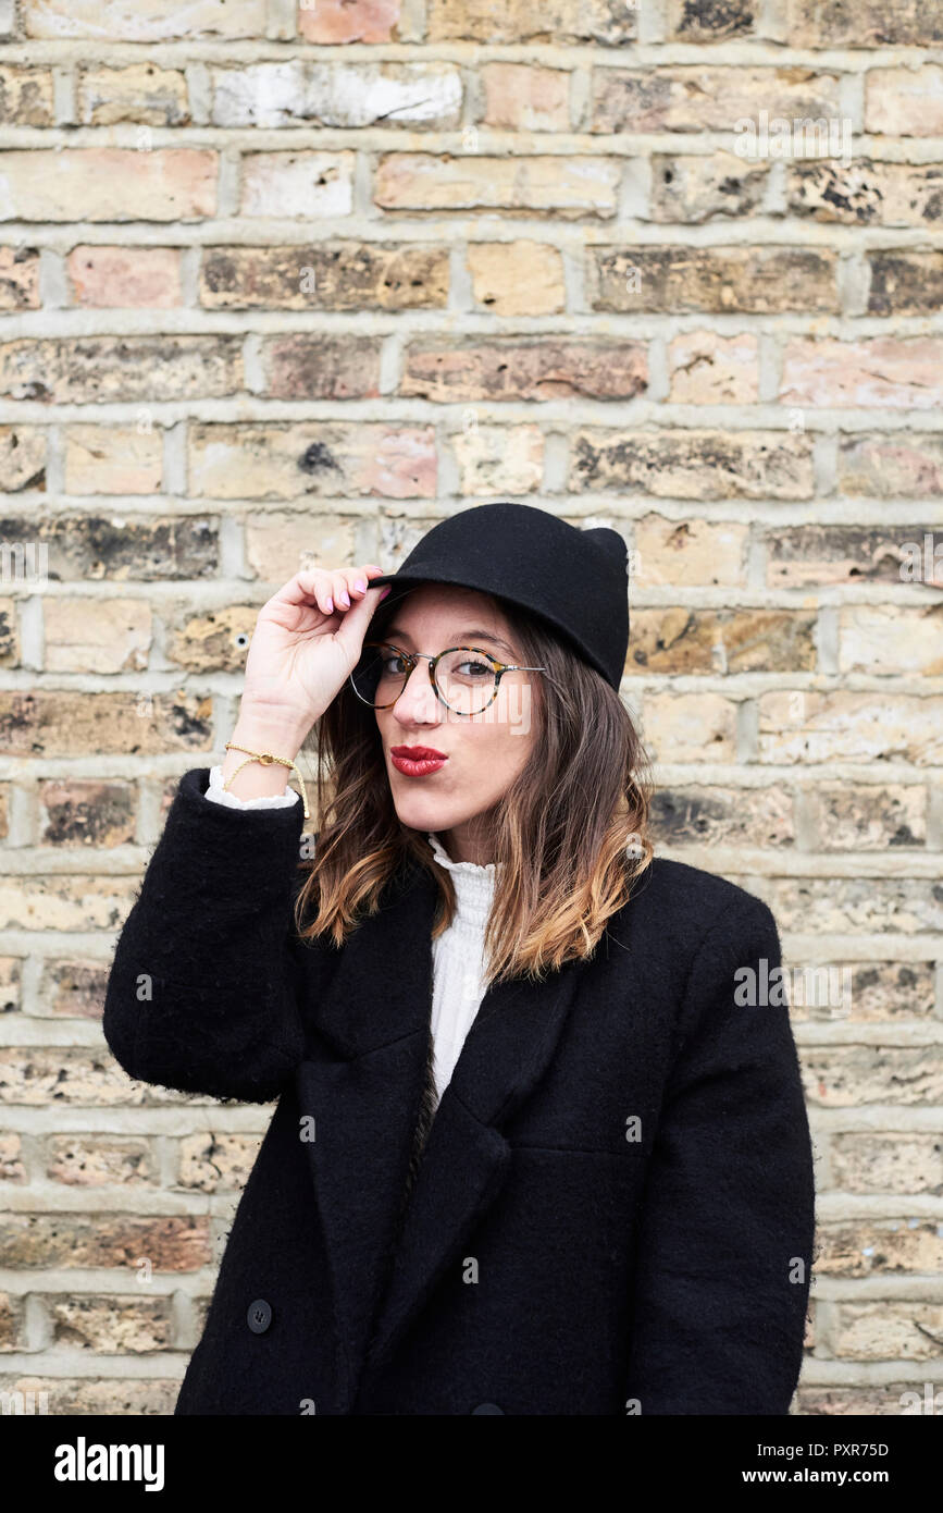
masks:
<instances>
[{"instance_id":1,"label":"black-speckled brick at right edge, third row from top","mask_svg":"<svg viewBox=\"0 0 943 1513\"><path fill-rule=\"evenodd\" d=\"M869 159L786 165L790 215L843 225L929 225L943 216L941 163L881 163Z\"/></svg>"}]
</instances>

